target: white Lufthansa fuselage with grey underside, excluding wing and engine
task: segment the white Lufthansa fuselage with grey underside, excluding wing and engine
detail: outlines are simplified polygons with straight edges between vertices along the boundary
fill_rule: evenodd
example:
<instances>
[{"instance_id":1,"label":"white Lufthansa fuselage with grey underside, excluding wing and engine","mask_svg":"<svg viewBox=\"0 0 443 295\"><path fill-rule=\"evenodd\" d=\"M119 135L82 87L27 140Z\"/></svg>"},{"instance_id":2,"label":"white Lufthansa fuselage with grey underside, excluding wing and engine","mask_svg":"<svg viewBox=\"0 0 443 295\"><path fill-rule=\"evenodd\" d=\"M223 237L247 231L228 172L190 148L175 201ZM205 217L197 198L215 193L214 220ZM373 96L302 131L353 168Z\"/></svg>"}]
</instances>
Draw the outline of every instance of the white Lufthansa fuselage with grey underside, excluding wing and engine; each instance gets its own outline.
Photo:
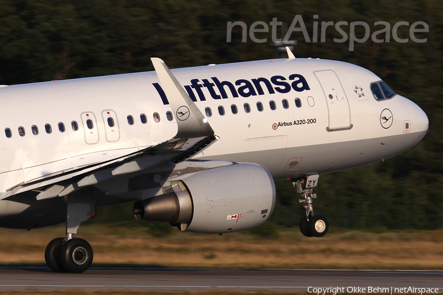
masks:
<instances>
[{"instance_id":1,"label":"white Lufthansa fuselage with grey underside, excluding wing and engine","mask_svg":"<svg viewBox=\"0 0 443 295\"><path fill-rule=\"evenodd\" d=\"M173 73L220 137L194 159L256 163L275 179L378 162L411 148L428 129L428 119L416 104L399 95L376 100L370 85L381 79L347 63L279 59ZM216 85L214 77L230 82L233 90L227 83ZM1 87L0 192L173 137L177 114L168 121L170 107L156 83L156 72L144 72ZM227 98L222 98L223 91ZM334 98L328 97L330 92ZM381 124L384 109L392 114L383 119L392 120L389 126ZM108 117L115 126L108 125ZM91 129L87 120L93 122ZM77 131L71 122L77 123Z\"/></svg>"}]
</instances>

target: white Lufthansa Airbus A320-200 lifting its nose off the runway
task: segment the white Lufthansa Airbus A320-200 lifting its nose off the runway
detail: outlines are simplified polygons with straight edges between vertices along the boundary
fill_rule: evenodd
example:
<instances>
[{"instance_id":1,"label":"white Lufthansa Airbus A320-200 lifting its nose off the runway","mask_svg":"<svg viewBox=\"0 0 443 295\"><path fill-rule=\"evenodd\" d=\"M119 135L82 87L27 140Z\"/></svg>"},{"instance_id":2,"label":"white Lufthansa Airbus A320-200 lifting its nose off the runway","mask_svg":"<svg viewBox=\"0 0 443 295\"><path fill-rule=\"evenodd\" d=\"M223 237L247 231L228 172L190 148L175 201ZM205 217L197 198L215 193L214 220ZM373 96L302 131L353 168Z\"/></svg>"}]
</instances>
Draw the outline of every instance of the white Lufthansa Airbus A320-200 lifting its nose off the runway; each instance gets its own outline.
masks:
<instances>
[{"instance_id":1,"label":"white Lufthansa Airbus A320-200 lifting its nose off the runway","mask_svg":"<svg viewBox=\"0 0 443 295\"><path fill-rule=\"evenodd\" d=\"M74 238L97 206L134 202L139 220L228 233L263 224L274 179L292 180L323 236L313 188L322 173L395 156L428 130L426 114L371 71L288 59L3 86L0 227L66 222L45 251L57 272L83 272Z\"/></svg>"}]
</instances>

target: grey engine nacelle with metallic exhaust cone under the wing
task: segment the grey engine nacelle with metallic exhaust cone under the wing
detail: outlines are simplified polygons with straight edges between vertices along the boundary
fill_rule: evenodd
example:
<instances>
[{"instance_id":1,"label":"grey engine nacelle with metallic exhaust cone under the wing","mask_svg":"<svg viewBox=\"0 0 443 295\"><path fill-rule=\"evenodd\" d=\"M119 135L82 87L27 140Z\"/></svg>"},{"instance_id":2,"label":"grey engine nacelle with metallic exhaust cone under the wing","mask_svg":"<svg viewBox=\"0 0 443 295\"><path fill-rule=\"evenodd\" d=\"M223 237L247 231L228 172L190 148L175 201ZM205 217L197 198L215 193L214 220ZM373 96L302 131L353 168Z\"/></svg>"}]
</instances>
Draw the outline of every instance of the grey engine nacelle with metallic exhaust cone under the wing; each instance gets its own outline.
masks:
<instances>
[{"instance_id":1,"label":"grey engine nacelle with metallic exhaust cone under the wing","mask_svg":"<svg viewBox=\"0 0 443 295\"><path fill-rule=\"evenodd\" d=\"M252 229L271 216L276 191L271 174L256 164L232 164L174 177L165 194L137 201L139 220L181 230L226 233Z\"/></svg>"}]
</instances>

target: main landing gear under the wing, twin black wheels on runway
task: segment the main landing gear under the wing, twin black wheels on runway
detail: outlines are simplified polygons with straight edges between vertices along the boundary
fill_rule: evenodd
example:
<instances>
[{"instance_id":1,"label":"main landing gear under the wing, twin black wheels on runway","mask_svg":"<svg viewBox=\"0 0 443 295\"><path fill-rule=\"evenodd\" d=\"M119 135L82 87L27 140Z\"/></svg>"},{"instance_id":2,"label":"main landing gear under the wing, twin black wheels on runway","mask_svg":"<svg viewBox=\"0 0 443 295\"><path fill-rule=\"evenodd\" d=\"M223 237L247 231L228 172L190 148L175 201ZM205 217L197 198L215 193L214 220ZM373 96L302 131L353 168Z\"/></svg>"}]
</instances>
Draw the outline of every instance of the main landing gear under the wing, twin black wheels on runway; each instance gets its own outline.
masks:
<instances>
[{"instance_id":1,"label":"main landing gear under the wing, twin black wheels on runway","mask_svg":"<svg viewBox=\"0 0 443 295\"><path fill-rule=\"evenodd\" d=\"M66 237L55 238L45 250L45 261L55 272L80 273L87 270L94 259L91 245L84 239L74 238L74 233L85 220L95 217L93 198L67 197Z\"/></svg>"}]
</instances>

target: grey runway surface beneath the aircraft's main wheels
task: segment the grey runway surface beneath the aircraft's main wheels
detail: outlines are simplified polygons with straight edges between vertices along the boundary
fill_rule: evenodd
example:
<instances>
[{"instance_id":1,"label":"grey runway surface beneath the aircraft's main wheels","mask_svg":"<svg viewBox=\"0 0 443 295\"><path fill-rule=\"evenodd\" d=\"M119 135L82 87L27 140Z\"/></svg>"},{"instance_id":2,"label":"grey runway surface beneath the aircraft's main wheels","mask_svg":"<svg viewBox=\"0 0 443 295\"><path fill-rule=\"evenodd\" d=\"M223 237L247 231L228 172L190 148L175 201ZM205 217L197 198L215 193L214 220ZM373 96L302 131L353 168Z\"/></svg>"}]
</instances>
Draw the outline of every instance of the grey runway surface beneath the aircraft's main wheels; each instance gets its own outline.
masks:
<instances>
[{"instance_id":1,"label":"grey runway surface beneath the aircraft's main wheels","mask_svg":"<svg viewBox=\"0 0 443 295\"><path fill-rule=\"evenodd\" d=\"M0 291L308 292L308 287L345 287L344 293L357 293L348 287L439 288L443 293L443 271L91 268L73 274L54 273L46 267L0 268Z\"/></svg>"}]
</instances>

